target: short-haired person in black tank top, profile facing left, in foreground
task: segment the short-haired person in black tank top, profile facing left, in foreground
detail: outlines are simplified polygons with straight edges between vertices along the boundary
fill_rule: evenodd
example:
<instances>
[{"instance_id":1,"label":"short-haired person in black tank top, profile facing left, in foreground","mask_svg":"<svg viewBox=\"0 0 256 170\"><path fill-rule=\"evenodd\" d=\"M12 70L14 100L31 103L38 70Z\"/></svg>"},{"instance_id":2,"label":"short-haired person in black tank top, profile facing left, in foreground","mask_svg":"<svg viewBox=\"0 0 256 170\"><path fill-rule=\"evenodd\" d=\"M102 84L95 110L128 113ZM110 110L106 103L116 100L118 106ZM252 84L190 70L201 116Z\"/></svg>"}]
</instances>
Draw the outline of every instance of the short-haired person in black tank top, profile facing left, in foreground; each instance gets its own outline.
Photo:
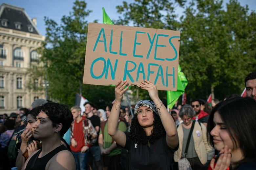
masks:
<instances>
[{"instance_id":1,"label":"short-haired person in black tank top, profile facing left, in foreground","mask_svg":"<svg viewBox=\"0 0 256 170\"><path fill-rule=\"evenodd\" d=\"M65 105L48 102L37 107L35 112L33 136L42 141L42 149L35 151L22 169L75 170L73 154L61 143L61 137L73 121L71 111Z\"/></svg>"}]
</instances>

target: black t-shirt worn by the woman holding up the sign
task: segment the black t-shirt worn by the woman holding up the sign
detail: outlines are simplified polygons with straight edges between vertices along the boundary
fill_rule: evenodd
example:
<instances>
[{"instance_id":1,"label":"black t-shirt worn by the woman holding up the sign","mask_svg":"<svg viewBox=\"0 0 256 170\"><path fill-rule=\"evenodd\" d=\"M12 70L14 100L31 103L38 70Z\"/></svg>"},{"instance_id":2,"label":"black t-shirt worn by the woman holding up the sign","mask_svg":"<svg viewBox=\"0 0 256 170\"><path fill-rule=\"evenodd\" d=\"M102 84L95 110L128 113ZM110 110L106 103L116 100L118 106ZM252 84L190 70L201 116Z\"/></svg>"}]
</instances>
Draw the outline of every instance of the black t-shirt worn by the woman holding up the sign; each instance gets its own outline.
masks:
<instances>
[{"instance_id":1,"label":"black t-shirt worn by the woman holding up the sign","mask_svg":"<svg viewBox=\"0 0 256 170\"><path fill-rule=\"evenodd\" d=\"M126 143L124 148L129 153L129 168L136 169L170 169L171 160L174 152L178 150L179 145L171 149L166 143L166 137L162 137L155 141L154 144L135 144L130 139L130 132L124 132L126 135ZM122 146L117 144L117 147Z\"/></svg>"}]
</instances>

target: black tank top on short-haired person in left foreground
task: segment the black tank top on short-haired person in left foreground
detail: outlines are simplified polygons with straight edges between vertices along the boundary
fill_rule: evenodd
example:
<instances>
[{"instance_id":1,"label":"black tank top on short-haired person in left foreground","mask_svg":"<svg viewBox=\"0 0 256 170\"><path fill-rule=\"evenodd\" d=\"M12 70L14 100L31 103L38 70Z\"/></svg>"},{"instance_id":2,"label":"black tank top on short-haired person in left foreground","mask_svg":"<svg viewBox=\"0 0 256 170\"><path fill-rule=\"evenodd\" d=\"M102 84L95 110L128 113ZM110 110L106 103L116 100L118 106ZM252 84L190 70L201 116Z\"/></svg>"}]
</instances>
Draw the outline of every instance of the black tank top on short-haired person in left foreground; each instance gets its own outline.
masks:
<instances>
[{"instance_id":1,"label":"black tank top on short-haired person in left foreground","mask_svg":"<svg viewBox=\"0 0 256 170\"><path fill-rule=\"evenodd\" d=\"M68 150L63 144L53 149L51 152L46 154L45 156L38 158L39 154L41 153L42 149L36 152L32 158L29 160L25 170L45 170L45 166L48 161L56 155L58 152L62 150Z\"/></svg>"}]
</instances>

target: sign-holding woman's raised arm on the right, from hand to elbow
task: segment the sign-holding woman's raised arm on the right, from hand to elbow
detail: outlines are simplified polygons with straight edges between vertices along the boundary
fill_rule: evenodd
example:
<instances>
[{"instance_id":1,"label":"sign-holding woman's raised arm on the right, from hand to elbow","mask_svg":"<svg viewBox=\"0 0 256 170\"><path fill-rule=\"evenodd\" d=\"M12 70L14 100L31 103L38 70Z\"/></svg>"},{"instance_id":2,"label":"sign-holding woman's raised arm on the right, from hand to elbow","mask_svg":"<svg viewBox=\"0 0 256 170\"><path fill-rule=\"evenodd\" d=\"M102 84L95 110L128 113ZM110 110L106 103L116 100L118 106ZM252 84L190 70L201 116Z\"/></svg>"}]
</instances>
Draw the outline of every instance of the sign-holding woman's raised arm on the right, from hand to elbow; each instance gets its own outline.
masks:
<instances>
[{"instance_id":1,"label":"sign-holding woman's raised arm on the right, from hand to elbow","mask_svg":"<svg viewBox=\"0 0 256 170\"><path fill-rule=\"evenodd\" d=\"M148 91L151 100L155 103L157 107L158 114L166 131L166 143L170 148L175 148L179 144L177 128L171 114L163 105L162 101L158 96L156 85L154 85L150 81L144 80L141 81L139 87Z\"/></svg>"}]
</instances>

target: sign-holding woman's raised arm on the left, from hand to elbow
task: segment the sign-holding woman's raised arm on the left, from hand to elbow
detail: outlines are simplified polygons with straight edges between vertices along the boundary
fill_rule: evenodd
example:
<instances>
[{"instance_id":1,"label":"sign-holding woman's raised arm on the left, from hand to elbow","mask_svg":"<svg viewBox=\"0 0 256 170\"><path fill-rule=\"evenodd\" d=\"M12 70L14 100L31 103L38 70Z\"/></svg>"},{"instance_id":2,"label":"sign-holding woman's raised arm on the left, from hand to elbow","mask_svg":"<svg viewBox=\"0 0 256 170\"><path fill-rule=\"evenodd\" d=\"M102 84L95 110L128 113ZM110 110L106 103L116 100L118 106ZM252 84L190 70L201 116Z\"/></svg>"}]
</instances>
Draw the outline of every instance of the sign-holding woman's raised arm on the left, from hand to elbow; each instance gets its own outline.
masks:
<instances>
[{"instance_id":1,"label":"sign-holding woman's raised arm on the left, from hand to elbow","mask_svg":"<svg viewBox=\"0 0 256 170\"><path fill-rule=\"evenodd\" d=\"M115 88L115 103L111 109L109 118L108 118L108 134L117 142L117 144L121 146L125 146L126 143L126 136L125 133L121 130L118 130L118 119L119 119L119 113L120 113L120 106L121 101L123 98L123 93L128 89L128 87L125 88L125 86L128 86L127 80L121 81L119 80L116 83Z\"/></svg>"}]
</instances>

